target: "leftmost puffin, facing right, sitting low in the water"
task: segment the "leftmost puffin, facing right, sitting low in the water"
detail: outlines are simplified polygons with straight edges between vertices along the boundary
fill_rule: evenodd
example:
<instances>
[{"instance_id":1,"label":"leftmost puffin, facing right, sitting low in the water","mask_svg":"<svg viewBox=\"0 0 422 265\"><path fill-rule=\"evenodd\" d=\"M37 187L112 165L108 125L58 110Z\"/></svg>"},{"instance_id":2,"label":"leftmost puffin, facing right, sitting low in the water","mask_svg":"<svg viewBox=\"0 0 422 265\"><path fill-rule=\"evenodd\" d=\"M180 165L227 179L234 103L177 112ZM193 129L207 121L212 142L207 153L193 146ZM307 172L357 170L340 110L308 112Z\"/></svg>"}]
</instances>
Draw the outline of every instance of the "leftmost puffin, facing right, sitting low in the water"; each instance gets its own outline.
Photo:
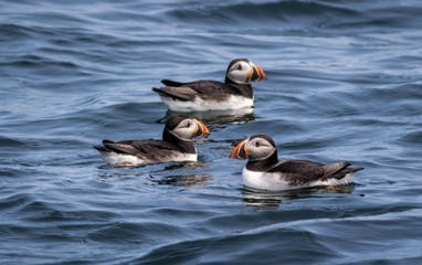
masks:
<instances>
[{"instance_id":1,"label":"leftmost puffin, facing right, sitting low in the water","mask_svg":"<svg viewBox=\"0 0 422 265\"><path fill-rule=\"evenodd\" d=\"M94 146L110 166L141 166L161 162L197 161L198 153L192 138L210 135L201 121L184 115L172 115L166 123L162 140L103 140Z\"/></svg>"}]
</instances>

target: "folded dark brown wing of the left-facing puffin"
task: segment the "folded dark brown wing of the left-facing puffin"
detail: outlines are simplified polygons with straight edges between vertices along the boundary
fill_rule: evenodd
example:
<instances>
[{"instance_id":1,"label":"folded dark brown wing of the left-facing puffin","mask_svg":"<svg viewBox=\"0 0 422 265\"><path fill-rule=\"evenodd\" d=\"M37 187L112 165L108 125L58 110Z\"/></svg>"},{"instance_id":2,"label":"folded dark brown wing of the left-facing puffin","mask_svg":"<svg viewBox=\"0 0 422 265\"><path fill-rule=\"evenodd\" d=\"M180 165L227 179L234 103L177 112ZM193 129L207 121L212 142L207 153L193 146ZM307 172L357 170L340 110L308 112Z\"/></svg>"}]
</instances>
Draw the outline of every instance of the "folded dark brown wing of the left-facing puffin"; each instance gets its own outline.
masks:
<instances>
[{"instance_id":1,"label":"folded dark brown wing of the left-facing puffin","mask_svg":"<svg viewBox=\"0 0 422 265\"><path fill-rule=\"evenodd\" d=\"M283 160L267 170L297 183L306 183L325 177L324 165L307 160Z\"/></svg>"}]
</instances>

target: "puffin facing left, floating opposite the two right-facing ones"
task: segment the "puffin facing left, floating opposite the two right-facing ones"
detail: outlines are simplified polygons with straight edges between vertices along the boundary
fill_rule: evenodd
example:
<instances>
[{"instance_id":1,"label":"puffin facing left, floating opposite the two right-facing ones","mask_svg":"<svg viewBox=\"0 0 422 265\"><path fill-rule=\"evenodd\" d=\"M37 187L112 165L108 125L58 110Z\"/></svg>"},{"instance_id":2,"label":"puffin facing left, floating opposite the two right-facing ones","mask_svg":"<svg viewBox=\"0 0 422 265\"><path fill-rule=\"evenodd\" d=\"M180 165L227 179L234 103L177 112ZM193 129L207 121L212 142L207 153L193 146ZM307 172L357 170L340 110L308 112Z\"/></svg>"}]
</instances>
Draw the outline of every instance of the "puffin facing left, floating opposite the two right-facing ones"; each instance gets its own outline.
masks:
<instances>
[{"instance_id":1,"label":"puffin facing left, floating opposite the two right-facing ones","mask_svg":"<svg viewBox=\"0 0 422 265\"><path fill-rule=\"evenodd\" d=\"M342 186L354 181L355 172L342 161L329 165L308 160L278 160L274 140L267 135L254 135L240 142L229 156L249 159L243 168L245 187L256 190L283 191L318 186Z\"/></svg>"}]
</instances>

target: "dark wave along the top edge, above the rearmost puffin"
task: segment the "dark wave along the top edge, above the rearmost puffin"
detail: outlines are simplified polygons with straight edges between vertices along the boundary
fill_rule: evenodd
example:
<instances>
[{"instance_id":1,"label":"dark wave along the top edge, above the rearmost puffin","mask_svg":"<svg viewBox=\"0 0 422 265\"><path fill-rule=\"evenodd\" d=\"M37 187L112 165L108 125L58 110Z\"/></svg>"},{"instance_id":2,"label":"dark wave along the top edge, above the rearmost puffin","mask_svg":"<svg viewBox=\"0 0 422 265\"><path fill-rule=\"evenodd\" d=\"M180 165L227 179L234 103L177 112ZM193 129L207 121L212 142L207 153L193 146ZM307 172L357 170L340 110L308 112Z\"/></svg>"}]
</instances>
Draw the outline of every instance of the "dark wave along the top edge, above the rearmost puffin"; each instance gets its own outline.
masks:
<instances>
[{"instance_id":1,"label":"dark wave along the top edge, above the rearmost puffin","mask_svg":"<svg viewBox=\"0 0 422 265\"><path fill-rule=\"evenodd\" d=\"M193 7L175 9L167 14L179 22L228 28L234 24L242 28L265 28L267 23L279 23L282 28L285 28L286 23L318 25L330 18L360 17L358 11L347 7L300 1Z\"/></svg>"}]
</instances>

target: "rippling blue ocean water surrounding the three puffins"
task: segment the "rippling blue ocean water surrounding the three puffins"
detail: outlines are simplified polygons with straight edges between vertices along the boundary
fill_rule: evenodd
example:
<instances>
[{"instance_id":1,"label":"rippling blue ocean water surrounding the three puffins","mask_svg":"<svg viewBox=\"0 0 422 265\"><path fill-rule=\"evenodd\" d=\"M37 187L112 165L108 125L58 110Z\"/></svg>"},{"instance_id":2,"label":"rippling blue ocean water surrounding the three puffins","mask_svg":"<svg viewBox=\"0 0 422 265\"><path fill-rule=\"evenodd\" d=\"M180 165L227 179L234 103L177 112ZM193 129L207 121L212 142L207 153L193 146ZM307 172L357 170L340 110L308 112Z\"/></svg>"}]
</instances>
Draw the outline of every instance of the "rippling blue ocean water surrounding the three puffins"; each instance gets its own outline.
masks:
<instances>
[{"instance_id":1,"label":"rippling blue ocean water surrounding the three puffins","mask_svg":"<svg viewBox=\"0 0 422 265\"><path fill-rule=\"evenodd\" d=\"M0 2L1 264L421 264L422 3ZM268 80L250 112L190 113L199 161L106 166L102 139L160 138L151 87ZM365 167L339 189L244 189L254 134L281 158Z\"/></svg>"}]
</instances>

